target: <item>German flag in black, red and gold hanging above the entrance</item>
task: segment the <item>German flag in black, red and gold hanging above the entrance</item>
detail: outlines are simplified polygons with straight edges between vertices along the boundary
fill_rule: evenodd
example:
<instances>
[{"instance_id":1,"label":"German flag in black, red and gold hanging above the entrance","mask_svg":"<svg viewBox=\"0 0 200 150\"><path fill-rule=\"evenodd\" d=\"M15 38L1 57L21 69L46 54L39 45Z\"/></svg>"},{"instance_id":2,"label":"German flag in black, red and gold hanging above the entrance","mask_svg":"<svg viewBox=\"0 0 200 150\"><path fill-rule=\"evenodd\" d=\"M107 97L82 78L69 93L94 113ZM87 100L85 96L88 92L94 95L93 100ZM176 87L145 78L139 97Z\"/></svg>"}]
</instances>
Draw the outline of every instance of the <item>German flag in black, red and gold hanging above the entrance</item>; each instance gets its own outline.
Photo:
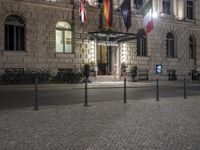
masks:
<instances>
[{"instance_id":1,"label":"German flag in black, red and gold hanging above the entrance","mask_svg":"<svg viewBox=\"0 0 200 150\"><path fill-rule=\"evenodd\" d=\"M104 13L104 28L109 29L112 27L113 22L113 8L112 8L112 0L104 0L103 1L103 13Z\"/></svg>"}]
</instances>

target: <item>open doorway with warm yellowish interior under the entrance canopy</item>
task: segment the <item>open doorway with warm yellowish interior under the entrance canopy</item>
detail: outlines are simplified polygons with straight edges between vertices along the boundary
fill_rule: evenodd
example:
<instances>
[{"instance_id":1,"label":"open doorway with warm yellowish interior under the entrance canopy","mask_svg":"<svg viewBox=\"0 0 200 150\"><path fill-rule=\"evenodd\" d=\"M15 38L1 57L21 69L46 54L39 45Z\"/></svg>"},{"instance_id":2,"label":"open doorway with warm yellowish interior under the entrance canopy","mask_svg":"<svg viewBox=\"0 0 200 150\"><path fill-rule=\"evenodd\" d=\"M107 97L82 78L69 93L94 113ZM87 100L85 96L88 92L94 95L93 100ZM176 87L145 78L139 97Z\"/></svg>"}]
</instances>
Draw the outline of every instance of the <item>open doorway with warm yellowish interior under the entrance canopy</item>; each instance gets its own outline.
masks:
<instances>
[{"instance_id":1,"label":"open doorway with warm yellowish interior under the entrance canopy","mask_svg":"<svg viewBox=\"0 0 200 150\"><path fill-rule=\"evenodd\" d=\"M112 74L112 47L97 46L97 75L111 75Z\"/></svg>"}]
</instances>

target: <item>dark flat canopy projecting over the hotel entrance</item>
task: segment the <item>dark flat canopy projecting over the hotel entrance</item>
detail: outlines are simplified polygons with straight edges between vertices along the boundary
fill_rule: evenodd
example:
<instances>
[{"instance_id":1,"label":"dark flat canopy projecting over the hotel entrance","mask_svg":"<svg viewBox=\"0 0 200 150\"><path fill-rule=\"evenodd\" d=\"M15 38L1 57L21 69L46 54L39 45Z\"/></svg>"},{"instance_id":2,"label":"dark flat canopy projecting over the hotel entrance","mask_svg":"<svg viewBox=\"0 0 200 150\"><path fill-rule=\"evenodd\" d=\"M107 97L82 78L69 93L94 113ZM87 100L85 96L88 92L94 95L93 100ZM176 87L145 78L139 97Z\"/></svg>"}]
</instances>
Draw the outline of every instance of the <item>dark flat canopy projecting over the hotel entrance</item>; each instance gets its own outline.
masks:
<instances>
[{"instance_id":1,"label":"dark flat canopy projecting over the hotel entrance","mask_svg":"<svg viewBox=\"0 0 200 150\"><path fill-rule=\"evenodd\" d=\"M98 40L98 42L104 42L108 44L126 42L130 40L137 39L136 33L124 33L124 32L117 32L112 29L100 29L95 32L88 32L93 38Z\"/></svg>"}]
</instances>

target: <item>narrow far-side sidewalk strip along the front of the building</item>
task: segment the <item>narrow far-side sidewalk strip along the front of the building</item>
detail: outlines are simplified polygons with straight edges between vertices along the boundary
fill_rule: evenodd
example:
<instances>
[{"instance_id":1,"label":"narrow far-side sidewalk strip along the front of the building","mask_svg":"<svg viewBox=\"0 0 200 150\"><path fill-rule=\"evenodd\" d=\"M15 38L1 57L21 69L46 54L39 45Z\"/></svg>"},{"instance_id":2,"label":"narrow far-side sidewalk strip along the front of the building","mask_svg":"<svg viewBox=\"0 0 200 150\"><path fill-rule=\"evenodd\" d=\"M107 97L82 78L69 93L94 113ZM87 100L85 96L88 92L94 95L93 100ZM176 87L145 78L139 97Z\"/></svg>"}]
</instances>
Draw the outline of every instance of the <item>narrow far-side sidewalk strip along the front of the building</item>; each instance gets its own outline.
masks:
<instances>
[{"instance_id":1,"label":"narrow far-side sidewalk strip along the front of the building","mask_svg":"<svg viewBox=\"0 0 200 150\"><path fill-rule=\"evenodd\" d=\"M156 81L139 81L139 82L131 82L127 81L127 87L155 87L156 86ZM183 81L159 81L160 86L183 86ZM186 82L187 86L200 86L200 81L187 81ZM18 89L32 89L34 88L34 84L32 85L0 85L0 89L10 89L10 88L18 88ZM98 88L98 87L123 87L124 86L124 81L107 81L107 82L88 82L88 88ZM70 88L70 89L77 89L77 88L84 88L85 83L79 83L79 84L69 84L69 83L62 83L62 84L39 84L39 88Z\"/></svg>"}]
</instances>

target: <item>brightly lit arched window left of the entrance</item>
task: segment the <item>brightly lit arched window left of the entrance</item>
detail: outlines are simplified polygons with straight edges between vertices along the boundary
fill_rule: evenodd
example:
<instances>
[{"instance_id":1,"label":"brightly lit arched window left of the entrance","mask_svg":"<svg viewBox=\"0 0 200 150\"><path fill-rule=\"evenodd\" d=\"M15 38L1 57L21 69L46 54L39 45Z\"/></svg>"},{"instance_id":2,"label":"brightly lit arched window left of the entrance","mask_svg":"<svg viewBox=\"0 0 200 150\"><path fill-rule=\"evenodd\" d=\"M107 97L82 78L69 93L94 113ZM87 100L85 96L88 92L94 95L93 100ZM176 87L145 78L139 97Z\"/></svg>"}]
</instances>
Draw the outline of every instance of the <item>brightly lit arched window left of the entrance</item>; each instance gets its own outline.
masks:
<instances>
[{"instance_id":1,"label":"brightly lit arched window left of the entrance","mask_svg":"<svg viewBox=\"0 0 200 150\"><path fill-rule=\"evenodd\" d=\"M72 28L66 21L56 24L56 52L72 53Z\"/></svg>"}]
</instances>

